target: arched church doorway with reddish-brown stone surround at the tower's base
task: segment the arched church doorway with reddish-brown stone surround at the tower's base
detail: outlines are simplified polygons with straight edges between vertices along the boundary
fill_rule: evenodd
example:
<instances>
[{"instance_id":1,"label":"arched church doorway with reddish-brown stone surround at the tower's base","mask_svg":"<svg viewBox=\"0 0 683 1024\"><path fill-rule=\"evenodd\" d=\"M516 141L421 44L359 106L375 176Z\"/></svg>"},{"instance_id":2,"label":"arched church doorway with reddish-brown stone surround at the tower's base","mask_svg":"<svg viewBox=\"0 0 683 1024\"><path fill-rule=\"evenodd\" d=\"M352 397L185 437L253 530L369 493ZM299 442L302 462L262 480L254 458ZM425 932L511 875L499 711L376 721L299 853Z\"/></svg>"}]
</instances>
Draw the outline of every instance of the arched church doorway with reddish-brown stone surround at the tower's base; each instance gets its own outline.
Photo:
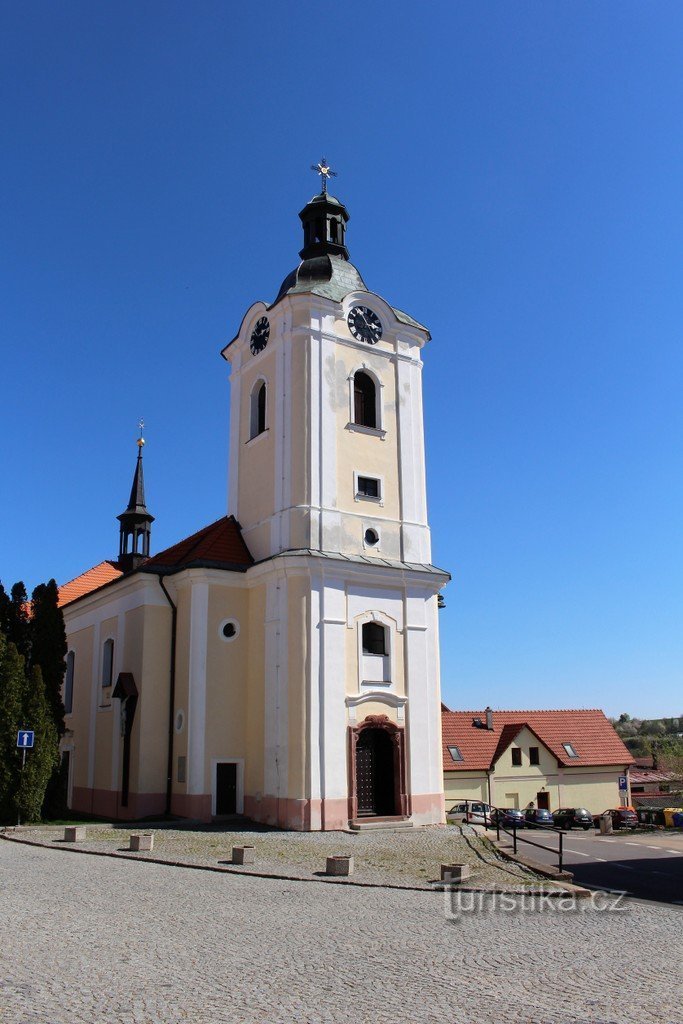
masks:
<instances>
[{"instance_id":1,"label":"arched church doorway with reddish-brown stone surround at the tower's base","mask_svg":"<svg viewBox=\"0 0 683 1024\"><path fill-rule=\"evenodd\" d=\"M349 818L407 817L403 729L386 715L349 728Z\"/></svg>"}]
</instances>

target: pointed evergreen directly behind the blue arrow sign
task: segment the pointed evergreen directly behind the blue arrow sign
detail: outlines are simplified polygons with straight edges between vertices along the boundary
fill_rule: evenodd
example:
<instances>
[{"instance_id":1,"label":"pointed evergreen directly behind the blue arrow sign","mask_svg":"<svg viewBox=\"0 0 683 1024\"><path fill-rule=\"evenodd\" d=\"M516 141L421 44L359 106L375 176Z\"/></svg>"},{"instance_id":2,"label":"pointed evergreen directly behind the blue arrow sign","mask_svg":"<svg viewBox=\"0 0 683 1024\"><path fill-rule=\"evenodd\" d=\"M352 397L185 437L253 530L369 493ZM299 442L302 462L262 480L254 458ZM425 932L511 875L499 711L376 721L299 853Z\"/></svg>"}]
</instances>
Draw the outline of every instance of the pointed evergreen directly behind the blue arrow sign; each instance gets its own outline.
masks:
<instances>
[{"instance_id":1,"label":"pointed evergreen directly behind the blue arrow sign","mask_svg":"<svg viewBox=\"0 0 683 1024\"><path fill-rule=\"evenodd\" d=\"M59 737L38 666L26 678L24 720L35 732L35 743L33 750L27 753L24 769L19 773L16 810L22 821L38 821L47 783L59 764Z\"/></svg>"}]
</instances>

